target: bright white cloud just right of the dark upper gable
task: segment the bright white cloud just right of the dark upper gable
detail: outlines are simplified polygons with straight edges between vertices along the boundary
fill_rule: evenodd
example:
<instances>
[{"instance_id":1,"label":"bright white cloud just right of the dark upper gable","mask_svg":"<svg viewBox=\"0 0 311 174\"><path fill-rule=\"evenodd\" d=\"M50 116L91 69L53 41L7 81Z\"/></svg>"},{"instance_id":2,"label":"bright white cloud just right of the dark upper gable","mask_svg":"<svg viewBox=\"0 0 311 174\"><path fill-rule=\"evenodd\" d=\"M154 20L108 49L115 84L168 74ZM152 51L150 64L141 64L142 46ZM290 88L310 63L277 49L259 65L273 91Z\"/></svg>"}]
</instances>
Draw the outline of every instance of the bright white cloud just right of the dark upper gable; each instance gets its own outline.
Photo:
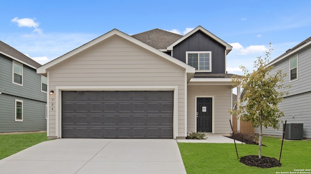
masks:
<instances>
[{"instance_id":1,"label":"bright white cloud just right of the dark upper gable","mask_svg":"<svg viewBox=\"0 0 311 174\"><path fill-rule=\"evenodd\" d=\"M236 50L240 55L253 55L264 53L268 48L265 45L250 45L244 48L240 43L230 43L232 50Z\"/></svg>"}]
</instances>

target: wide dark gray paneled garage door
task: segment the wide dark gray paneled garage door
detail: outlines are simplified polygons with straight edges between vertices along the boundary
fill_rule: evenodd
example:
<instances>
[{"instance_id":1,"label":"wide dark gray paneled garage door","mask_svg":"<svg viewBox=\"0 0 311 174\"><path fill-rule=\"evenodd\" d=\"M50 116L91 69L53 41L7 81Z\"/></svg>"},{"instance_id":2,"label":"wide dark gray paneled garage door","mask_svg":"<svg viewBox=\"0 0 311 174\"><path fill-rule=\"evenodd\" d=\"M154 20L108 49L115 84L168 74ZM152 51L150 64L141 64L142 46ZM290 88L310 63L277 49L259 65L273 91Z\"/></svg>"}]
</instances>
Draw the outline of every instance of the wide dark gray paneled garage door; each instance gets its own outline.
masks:
<instances>
[{"instance_id":1,"label":"wide dark gray paneled garage door","mask_svg":"<svg viewBox=\"0 0 311 174\"><path fill-rule=\"evenodd\" d=\"M63 138L173 138L173 91L62 91Z\"/></svg>"}]
</instances>

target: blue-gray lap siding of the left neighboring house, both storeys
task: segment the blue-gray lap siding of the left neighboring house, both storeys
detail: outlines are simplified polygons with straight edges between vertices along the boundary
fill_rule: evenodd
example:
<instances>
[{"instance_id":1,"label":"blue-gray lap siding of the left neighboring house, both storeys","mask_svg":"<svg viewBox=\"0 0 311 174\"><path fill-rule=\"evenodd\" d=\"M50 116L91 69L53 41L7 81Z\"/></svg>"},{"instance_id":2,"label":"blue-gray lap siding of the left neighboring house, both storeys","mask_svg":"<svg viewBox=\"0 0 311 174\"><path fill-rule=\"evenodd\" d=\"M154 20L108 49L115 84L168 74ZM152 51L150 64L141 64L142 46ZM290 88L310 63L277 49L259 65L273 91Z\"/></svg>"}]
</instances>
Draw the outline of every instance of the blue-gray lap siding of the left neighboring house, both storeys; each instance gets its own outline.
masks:
<instances>
[{"instance_id":1,"label":"blue-gray lap siding of the left neighboring house, both storeys","mask_svg":"<svg viewBox=\"0 0 311 174\"><path fill-rule=\"evenodd\" d=\"M45 131L46 96L41 76L23 65L23 86L12 83L11 58L0 55L0 132ZM15 121L15 99L23 101L23 121Z\"/></svg>"}]
</instances>

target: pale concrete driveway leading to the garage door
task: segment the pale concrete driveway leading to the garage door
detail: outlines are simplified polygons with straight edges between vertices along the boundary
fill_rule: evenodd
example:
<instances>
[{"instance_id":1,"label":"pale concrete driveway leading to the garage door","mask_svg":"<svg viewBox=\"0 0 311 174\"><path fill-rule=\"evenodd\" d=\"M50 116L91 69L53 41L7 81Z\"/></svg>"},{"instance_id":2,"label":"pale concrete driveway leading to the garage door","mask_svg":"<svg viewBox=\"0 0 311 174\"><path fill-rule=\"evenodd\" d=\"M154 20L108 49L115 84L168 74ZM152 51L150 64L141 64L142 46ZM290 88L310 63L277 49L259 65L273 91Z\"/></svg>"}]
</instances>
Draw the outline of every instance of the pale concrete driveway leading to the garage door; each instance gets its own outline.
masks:
<instances>
[{"instance_id":1,"label":"pale concrete driveway leading to the garage door","mask_svg":"<svg viewBox=\"0 0 311 174\"><path fill-rule=\"evenodd\" d=\"M186 174L176 140L57 139L0 160L0 174Z\"/></svg>"}]
</instances>

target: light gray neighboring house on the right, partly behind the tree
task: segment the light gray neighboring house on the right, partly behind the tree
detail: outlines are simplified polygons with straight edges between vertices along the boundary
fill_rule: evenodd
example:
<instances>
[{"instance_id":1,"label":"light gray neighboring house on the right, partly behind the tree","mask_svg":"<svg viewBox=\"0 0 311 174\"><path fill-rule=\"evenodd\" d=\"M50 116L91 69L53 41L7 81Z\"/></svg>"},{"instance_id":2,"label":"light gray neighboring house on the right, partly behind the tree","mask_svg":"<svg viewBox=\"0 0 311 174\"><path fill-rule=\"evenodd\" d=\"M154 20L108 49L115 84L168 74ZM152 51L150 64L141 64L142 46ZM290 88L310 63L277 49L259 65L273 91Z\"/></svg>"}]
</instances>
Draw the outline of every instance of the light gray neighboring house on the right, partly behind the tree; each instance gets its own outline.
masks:
<instances>
[{"instance_id":1,"label":"light gray neighboring house on the right, partly behind the tree","mask_svg":"<svg viewBox=\"0 0 311 174\"><path fill-rule=\"evenodd\" d=\"M303 123L303 137L311 138L311 37L287 50L281 56L272 60L267 66L274 66L272 73L282 70L287 73L284 85L289 94L283 96L279 109L284 112L283 123ZM263 129L263 134L282 135L283 124L280 129ZM259 132L258 129L255 131ZM298 132L296 132L298 133Z\"/></svg>"}]
</instances>

